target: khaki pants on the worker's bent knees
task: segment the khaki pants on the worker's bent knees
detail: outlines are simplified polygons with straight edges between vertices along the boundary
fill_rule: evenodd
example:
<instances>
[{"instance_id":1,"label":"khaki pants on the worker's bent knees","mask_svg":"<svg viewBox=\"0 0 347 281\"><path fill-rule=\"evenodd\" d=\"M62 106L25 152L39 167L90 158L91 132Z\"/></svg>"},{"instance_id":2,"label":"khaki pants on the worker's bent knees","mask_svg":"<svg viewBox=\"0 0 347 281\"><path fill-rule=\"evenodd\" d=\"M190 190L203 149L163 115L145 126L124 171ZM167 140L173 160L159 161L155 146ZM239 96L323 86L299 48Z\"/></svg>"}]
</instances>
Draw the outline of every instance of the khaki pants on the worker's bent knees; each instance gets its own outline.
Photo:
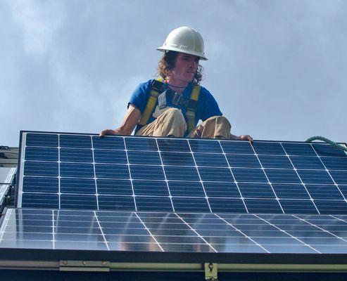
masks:
<instances>
[{"instance_id":1,"label":"khaki pants on the worker's bent knees","mask_svg":"<svg viewBox=\"0 0 347 281\"><path fill-rule=\"evenodd\" d=\"M213 116L199 124L188 138L230 138L231 125L223 116ZM156 120L143 126L137 132L137 136L174 136L182 138L187 130L181 110L168 108Z\"/></svg>"}]
</instances>

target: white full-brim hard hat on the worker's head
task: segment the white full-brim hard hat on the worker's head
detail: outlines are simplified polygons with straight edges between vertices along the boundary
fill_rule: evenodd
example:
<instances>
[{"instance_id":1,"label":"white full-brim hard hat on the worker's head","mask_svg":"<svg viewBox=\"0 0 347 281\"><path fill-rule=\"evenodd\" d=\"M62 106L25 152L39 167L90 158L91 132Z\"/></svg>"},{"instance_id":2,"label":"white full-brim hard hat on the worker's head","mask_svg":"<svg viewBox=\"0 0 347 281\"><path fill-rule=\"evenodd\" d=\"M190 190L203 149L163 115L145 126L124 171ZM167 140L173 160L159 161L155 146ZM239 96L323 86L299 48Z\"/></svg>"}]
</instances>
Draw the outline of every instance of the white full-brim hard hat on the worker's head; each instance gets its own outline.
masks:
<instances>
[{"instance_id":1,"label":"white full-brim hard hat on the worker's head","mask_svg":"<svg viewBox=\"0 0 347 281\"><path fill-rule=\"evenodd\" d=\"M201 60L208 60L203 52L203 37L191 27L178 27L169 33L163 46L158 51L176 51L197 55Z\"/></svg>"}]
</instances>

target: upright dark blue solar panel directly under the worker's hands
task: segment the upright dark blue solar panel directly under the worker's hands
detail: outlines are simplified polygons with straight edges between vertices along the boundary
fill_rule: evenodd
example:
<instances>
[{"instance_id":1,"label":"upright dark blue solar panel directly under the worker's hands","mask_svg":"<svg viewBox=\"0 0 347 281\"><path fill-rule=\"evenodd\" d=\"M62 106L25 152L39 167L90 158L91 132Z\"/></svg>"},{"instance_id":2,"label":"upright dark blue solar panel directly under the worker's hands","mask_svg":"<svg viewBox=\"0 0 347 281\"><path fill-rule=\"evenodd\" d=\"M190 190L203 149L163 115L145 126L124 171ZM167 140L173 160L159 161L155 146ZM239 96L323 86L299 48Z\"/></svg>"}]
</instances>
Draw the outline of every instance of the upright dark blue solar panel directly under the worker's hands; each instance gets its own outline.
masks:
<instances>
[{"instance_id":1,"label":"upright dark blue solar panel directly under the worker's hands","mask_svg":"<svg viewBox=\"0 0 347 281\"><path fill-rule=\"evenodd\" d=\"M16 207L347 214L347 155L325 143L22 132Z\"/></svg>"}]
</instances>

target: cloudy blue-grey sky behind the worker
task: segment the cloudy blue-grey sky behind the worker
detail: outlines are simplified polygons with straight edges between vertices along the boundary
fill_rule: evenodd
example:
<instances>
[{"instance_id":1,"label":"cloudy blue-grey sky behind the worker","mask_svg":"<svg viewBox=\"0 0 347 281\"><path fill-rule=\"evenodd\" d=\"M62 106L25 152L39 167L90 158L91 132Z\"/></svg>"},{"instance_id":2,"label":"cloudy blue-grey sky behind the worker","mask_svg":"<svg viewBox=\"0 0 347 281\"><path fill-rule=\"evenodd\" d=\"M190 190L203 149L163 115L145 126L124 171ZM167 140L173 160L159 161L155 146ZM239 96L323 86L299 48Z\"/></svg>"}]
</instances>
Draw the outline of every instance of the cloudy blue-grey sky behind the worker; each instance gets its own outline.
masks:
<instances>
[{"instance_id":1,"label":"cloudy blue-grey sky behind the worker","mask_svg":"<svg viewBox=\"0 0 347 281\"><path fill-rule=\"evenodd\" d=\"M347 1L0 0L0 145L116 128L184 25L203 36L201 85L232 133L347 142Z\"/></svg>"}]
</instances>

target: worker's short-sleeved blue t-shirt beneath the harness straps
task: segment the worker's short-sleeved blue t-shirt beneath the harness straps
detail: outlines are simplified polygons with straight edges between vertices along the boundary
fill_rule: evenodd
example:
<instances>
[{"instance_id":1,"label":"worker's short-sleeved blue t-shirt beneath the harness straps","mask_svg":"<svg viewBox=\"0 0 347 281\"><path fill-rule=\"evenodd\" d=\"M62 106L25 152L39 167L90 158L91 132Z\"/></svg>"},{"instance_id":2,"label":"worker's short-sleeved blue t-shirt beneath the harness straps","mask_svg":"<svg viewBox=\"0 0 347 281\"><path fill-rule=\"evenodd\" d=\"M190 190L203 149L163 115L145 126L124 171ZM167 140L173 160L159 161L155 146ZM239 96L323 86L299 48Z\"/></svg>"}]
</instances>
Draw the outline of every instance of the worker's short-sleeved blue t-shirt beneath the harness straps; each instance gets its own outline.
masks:
<instances>
[{"instance_id":1,"label":"worker's short-sleeved blue t-shirt beneath the harness straps","mask_svg":"<svg viewBox=\"0 0 347 281\"><path fill-rule=\"evenodd\" d=\"M128 107L130 104L132 104L141 111L141 114L144 113L144 109L147 105L147 101L149 100L149 96L151 93L152 81L153 79L146 81L145 83L141 83L139 84L139 86L137 86L134 93L132 93L132 96L130 97ZM187 98L187 99L190 98L191 89L192 89L192 84L189 83L187 88L184 89L184 91L182 92L182 95L184 98ZM182 110L184 119L186 119L186 122L187 122L185 107L181 107L179 105L172 105L170 101L168 101L168 107L176 107ZM153 117L153 113L155 113L156 110L158 112L158 100L157 100L156 106L153 109L153 112L151 112L149 123L153 122L156 119L155 117ZM200 95L198 96L198 108L196 110L195 125L198 124L198 120L205 121L206 119L210 117L220 116L220 115L222 115L222 112L220 112L220 107L218 107L218 104L215 101L215 98L213 98L212 94L206 88L201 86ZM136 131L138 131L140 128L141 126L138 125Z\"/></svg>"}]
</instances>

